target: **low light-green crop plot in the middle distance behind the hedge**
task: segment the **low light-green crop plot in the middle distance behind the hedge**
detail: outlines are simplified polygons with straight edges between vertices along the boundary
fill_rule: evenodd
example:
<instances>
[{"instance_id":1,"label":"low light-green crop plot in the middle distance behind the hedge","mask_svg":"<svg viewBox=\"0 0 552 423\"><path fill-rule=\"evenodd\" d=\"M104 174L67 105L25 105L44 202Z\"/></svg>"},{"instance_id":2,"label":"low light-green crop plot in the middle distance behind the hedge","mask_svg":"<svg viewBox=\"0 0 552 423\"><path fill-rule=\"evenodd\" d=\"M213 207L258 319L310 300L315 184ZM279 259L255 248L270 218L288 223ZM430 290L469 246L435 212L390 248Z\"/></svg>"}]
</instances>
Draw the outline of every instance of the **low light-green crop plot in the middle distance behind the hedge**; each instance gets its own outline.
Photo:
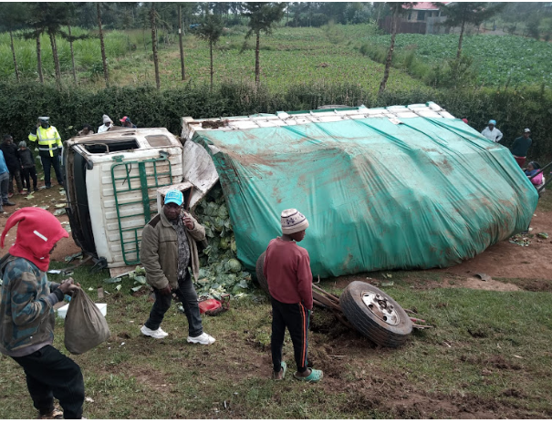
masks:
<instances>
[{"instance_id":1,"label":"low light-green crop plot in the middle distance behind the hedge","mask_svg":"<svg viewBox=\"0 0 552 423\"><path fill-rule=\"evenodd\" d=\"M261 36L261 82L271 90L280 90L290 85L327 82L354 83L373 90L380 86L383 66L364 57L351 47L351 40L370 26L355 28L349 34L348 26L333 28L280 28L273 35ZM255 39L248 40L243 53L245 27L233 28L221 37L214 50L214 83L223 80L255 80ZM119 60L114 68L114 77L120 83L125 74L134 84L152 82L153 64L141 60L143 50ZM209 50L207 44L194 36L184 39L186 77L195 82L209 81ZM151 56L148 52L147 56ZM161 60L161 87L181 82L180 54L178 45L163 48ZM392 69L389 88L409 90L420 88L422 83L400 70Z\"/></svg>"}]
</instances>

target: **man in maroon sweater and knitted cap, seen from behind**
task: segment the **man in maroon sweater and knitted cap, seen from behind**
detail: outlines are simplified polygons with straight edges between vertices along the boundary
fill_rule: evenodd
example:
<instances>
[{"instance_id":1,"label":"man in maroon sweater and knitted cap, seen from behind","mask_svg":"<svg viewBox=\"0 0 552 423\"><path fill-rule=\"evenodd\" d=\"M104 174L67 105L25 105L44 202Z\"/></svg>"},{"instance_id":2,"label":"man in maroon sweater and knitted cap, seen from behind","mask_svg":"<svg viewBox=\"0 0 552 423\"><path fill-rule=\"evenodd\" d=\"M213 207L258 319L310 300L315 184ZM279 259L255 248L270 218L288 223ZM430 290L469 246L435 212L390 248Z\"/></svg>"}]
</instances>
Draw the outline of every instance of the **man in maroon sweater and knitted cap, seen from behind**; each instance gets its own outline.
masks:
<instances>
[{"instance_id":1,"label":"man in maroon sweater and knitted cap, seen from behind","mask_svg":"<svg viewBox=\"0 0 552 423\"><path fill-rule=\"evenodd\" d=\"M322 371L307 367L308 319L312 310L312 273L307 250L296 242L305 238L307 218L296 209L282 211L282 236L268 243L263 273L272 301L271 351L276 380L286 376L282 346L286 327L291 336L297 373L294 377L318 382Z\"/></svg>"}]
</instances>

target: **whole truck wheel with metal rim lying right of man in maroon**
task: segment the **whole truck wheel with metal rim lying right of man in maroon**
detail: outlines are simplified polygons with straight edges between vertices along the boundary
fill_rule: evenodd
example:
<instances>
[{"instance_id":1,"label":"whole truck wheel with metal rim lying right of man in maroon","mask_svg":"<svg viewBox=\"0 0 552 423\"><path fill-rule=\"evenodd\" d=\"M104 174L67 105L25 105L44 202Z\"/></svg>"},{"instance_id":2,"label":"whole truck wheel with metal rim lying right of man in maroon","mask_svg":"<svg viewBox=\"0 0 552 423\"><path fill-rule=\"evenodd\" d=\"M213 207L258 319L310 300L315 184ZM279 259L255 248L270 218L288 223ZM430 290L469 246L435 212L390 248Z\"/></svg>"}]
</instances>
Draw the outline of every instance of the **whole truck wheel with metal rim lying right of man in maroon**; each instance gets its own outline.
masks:
<instances>
[{"instance_id":1,"label":"whole truck wheel with metal rim lying right of man in maroon","mask_svg":"<svg viewBox=\"0 0 552 423\"><path fill-rule=\"evenodd\" d=\"M401 346L412 331L411 319L401 305L370 284L351 282L339 304L359 333L379 346Z\"/></svg>"}]
</instances>

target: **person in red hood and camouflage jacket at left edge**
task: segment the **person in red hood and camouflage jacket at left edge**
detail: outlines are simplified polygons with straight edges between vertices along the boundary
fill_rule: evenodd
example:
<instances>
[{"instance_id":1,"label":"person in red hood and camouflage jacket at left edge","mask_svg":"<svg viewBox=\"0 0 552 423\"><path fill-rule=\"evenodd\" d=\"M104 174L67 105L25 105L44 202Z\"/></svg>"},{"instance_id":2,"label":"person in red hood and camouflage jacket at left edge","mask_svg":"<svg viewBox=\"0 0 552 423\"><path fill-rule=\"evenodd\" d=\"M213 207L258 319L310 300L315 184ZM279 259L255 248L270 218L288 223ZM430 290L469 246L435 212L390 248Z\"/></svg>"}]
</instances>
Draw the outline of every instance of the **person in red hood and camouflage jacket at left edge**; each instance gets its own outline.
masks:
<instances>
[{"instance_id":1,"label":"person in red hood and camouflage jacket at left edge","mask_svg":"<svg viewBox=\"0 0 552 423\"><path fill-rule=\"evenodd\" d=\"M0 352L23 367L26 386L38 418L82 418L84 381L80 367L52 346L54 304L72 294L73 280L54 284L47 280L50 253L68 232L49 211L25 207L5 223L5 235L17 224L16 243L0 260Z\"/></svg>"}]
</instances>

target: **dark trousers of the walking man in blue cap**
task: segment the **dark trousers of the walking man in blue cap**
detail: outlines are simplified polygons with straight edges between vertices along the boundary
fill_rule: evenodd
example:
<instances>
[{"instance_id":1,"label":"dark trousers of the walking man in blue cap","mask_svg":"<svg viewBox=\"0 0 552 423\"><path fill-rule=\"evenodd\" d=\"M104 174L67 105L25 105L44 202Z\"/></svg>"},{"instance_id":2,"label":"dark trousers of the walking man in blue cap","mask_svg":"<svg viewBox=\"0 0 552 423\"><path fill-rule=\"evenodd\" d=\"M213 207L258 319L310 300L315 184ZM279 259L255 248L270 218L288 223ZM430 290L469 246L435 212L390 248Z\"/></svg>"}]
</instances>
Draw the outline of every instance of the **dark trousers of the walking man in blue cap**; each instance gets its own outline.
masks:
<instances>
[{"instance_id":1,"label":"dark trousers of the walking man in blue cap","mask_svg":"<svg viewBox=\"0 0 552 423\"><path fill-rule=\"evenodd\" d=\"M155 303L153 303L150 312L150 318L146 322L146 327L151 330L157 330L163 321L167 310L171 307L172 294L163 295L161 291L153 288L155 292ZM184 314L188 319L188 335L195 337L203 334L202 318L199 313L199 302L197 293L193 288L192 276L186 272L186 277L178 281L178 288L172 291L176 294L178 301L182 302Z\"/></svg>"}]
</instances>

